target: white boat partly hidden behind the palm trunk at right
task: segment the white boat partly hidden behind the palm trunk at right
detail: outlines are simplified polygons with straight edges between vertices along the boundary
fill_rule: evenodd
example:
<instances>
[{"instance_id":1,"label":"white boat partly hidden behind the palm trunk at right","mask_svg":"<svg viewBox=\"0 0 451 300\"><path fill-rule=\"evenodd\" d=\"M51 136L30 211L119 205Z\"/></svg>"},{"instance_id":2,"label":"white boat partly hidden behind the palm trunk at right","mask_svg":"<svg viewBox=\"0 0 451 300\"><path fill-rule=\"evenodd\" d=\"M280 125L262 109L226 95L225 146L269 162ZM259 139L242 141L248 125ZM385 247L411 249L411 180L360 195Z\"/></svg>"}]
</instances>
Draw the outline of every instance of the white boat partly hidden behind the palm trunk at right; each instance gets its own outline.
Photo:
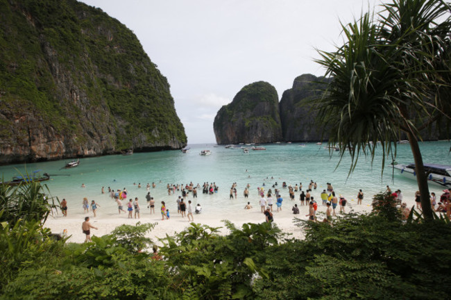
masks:
<instances>
[{"instance_id":1,"label":"white boat partly hidden behind the palm trunk at right","mask_svg":"<svg viewBox=\"0 0 451 300\"><path fill-rule=\"evenodd\" d=\"M401 175L407 178L416 179L415 164L393 165L395 169L400 170ZM427 182L440 185L441 187L451 188L451 165L425 164Z\"/></svg>"}]
</instances>

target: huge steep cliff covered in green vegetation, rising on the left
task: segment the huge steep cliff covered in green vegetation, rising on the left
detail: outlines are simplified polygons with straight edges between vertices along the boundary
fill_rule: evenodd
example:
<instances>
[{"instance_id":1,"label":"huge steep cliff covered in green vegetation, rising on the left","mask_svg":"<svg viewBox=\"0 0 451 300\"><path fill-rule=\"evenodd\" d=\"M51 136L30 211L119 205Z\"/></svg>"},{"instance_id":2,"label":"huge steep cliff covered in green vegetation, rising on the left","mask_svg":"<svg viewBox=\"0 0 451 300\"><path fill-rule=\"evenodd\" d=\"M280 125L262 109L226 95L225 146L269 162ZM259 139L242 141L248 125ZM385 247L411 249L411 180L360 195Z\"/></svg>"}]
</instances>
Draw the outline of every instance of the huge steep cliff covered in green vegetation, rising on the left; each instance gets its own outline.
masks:
<instances>
[{"instance_id":1,"label":"huge steep cliff covered in green vegetation, rising on the left","mask_svg":"<svg viewBox=\"0 0 451 300\"><path fill-rule=\"evenodd\" d=\"M187 142L167 79L100 9L0 0L0 53L0 163Z\"/></svg>"}]
</instances>

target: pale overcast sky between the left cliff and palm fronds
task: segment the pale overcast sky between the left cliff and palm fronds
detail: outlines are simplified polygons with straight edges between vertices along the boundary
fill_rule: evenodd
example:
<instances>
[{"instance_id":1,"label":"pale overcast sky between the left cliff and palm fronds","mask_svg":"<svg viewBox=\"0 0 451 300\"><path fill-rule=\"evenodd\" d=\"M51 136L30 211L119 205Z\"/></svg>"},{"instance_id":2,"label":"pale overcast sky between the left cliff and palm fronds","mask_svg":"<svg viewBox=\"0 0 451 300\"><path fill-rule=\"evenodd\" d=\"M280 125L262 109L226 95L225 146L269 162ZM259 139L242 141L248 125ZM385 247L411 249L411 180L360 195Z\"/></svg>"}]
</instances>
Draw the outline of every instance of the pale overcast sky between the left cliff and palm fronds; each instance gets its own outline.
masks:
<instances>
[{"instance_id":1,"label":"pale overcast sky between the left cliff and palm fronds","mask_svg":"<svg viewBox=\"0 0 451 300\"><path fill-rule=\"evenodd\" d=\"M83 0L130 28L171 85L188 144L216 142L213 121L245 85L282 93L323 76L317 50L343 44L341 25L381 0ZM386 1L385 1L386 2Z\"/></svg>"}]
</instances>

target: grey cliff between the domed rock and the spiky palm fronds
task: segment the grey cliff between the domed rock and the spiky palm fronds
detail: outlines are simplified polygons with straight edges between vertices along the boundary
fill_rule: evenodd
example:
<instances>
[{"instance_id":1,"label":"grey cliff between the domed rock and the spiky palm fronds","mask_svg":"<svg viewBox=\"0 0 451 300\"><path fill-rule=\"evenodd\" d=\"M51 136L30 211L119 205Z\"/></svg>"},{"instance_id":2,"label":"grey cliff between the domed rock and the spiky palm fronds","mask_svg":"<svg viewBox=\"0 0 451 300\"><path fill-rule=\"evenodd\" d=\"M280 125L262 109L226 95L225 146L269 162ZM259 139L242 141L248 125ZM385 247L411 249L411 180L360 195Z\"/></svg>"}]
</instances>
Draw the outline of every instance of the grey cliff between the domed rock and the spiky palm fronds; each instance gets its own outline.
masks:
<instances>
[{"instance_id":1,"label":"grey cliff between the domed rock and the spiky palm fronds","mask_svg":"<svg viewBox=\"0 0 451 300\"><path fill-rule=\"evenodd\" d=\"M282 134L285 141L318 141L321 140L321 130L314 125L316 113L312 99L321 97L325 78L311 74L298 76L293 82L293 88L286 90L280 100L280 119ZM327 137L323 137L327 140Z\"/></svg>"}]
</instances>

